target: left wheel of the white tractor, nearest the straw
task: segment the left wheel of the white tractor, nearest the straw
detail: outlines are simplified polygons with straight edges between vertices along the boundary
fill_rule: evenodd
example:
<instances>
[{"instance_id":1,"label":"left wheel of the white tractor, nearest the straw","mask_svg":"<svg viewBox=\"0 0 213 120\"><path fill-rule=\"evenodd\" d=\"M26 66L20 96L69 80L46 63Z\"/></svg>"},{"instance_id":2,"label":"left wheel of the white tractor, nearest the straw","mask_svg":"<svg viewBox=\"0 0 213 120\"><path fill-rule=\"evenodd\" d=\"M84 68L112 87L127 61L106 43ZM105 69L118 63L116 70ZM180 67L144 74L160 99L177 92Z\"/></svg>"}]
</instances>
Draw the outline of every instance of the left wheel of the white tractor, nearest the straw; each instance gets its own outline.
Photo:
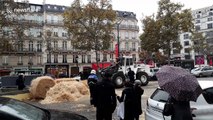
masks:
<instances>
[{"instance_id":1,"label":"left wheel of the white tractor, nearest the straw","mask_svg":"<svg viewBox=\"0 0 213 120\"><path fill-rule=\"evenodd\" d=\"M121 88L121 87L124 86L125 76L122 72L115 73L112 76L112 81L113 81L116 88Z\"/></svg>"}]
</instances>

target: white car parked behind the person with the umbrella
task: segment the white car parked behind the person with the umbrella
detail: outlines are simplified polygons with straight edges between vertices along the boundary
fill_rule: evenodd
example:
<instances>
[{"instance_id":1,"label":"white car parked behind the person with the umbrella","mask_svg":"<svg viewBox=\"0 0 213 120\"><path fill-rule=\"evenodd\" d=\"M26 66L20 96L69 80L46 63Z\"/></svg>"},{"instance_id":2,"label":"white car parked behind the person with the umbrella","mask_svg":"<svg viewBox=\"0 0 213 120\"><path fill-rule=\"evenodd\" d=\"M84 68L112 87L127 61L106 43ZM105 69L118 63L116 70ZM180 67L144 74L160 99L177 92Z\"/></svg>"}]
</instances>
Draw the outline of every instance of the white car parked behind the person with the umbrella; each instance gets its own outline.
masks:
<instances>
[{"instance_id":1,"label":"white car parked behind the person with the umbrella","mask_svg":"<svg viewBox=\"0 0 213 120\"><path fill-rule=\"evenodd\" d=\"M196 102L190 102L193 120L212 120L213 118L213 81L199 81L203 93ZM164 120L163 108L169 98L169 94L161 88L157 88L147 100L145 111L146 120ZM170 120L170 116L164 116Z\"/></svg>"}]
</instances>

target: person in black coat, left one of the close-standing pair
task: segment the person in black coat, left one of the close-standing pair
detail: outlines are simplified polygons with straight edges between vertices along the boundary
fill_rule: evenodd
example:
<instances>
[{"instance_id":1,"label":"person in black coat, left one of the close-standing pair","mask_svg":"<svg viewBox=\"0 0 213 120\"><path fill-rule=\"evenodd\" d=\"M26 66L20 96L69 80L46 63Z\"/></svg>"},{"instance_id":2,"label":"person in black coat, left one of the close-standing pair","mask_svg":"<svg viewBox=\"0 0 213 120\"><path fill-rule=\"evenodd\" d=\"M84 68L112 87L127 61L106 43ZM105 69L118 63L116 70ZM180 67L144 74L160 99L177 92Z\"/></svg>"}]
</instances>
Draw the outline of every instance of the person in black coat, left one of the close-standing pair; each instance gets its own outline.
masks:
<instances>
[{"instance_id":1,"label":"person in black coat, left one of the close-standing pair","mask_svg":"<svg viewBox=\"0 0 213 120\"><path fill-rule=\"evenodd\" d=\"M124 120L134 120L135 98L133 83L128 81L125 83L121 97L117 96L119 102L124 101Z\"/></svg>"}]
</instances>

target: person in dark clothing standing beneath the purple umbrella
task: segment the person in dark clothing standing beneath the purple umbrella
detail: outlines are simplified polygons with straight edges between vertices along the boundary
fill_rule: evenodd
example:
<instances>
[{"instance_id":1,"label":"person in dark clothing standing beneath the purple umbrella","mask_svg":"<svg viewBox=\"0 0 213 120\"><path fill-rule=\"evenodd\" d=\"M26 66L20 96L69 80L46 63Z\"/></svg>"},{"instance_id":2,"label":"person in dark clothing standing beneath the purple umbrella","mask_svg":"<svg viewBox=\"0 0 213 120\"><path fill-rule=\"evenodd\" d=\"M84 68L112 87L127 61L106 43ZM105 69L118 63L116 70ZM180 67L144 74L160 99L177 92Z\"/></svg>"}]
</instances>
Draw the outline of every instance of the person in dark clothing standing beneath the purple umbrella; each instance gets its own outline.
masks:
<instances>
[{"instance_id":1,"label":"person in dark clothing standing beneath the purple umbrella","mask_svg":"<svg viewBox=\"0 0 213 120\"><path fill-rule=\"evenodd\" d=\"M171 120L193 120L189 101L177 101L172 97L169 99L174 107Z\"/></svg>"}]
</instances>

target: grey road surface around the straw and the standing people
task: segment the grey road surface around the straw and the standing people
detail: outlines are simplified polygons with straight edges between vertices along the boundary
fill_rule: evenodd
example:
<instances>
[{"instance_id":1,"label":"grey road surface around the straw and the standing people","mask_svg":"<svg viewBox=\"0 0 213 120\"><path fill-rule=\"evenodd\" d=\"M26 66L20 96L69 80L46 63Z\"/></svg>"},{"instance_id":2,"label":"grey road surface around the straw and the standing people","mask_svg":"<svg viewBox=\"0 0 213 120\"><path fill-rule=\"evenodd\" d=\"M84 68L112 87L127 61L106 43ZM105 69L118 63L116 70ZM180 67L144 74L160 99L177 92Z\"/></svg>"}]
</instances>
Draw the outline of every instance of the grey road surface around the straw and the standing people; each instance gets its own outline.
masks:
<instances>
[{"instance_id":1,"label":"grey road surface around the straw and the standing people","mask_svg":"<svg viewBox=\"0 0 213 120\"><path fill-rule=\"evenodd\" d=\"M213 77L205 77L205 78L198 78L198 80L213 80ZM146 101L150 97L150 95L154 92L154 90L158 87L157 81L150 81L147 86L142 86L144 89L144 94L142 95L142 108L143 112L146 109ZM116 89L116 94L121 95L123 88ZM46 104L42 105L38 102L28 101L31 104L47 108L47 109L57 109L57 110L64 110L69 112L75 112L80 115L87 117L89 120L95 120L95 111L96 109L90 105L89 103L89 96L85 96L83 99L77 102L67 102L67 103L56 103L56 104ZM116 111L113 114L113 120L119 120ZM144 113L140 116L140 120L144 120Z\"/></svg>"}]
</instances>

